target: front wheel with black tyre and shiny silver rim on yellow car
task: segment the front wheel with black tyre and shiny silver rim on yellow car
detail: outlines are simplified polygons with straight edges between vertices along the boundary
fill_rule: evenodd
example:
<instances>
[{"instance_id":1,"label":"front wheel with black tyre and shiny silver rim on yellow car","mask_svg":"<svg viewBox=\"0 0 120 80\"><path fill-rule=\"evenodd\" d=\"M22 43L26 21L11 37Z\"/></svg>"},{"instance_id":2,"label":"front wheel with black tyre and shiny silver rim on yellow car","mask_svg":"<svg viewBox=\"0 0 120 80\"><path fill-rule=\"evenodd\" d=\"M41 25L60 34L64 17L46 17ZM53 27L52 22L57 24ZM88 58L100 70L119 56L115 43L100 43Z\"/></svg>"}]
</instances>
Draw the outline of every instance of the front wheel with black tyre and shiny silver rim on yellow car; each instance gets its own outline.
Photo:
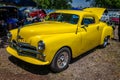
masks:
<instances>
[{"instance_id":1,"label":"front wheel with black tyre and shiny silver rim on yellow car","mask_svg":"<svg viewBox=\"0 0 120 80\"><path fill-rule=\"evenodd\" d=\"M63 71L68 67L70 60L71 52L69 48L63 47L56 53L50 68L53 72Z\"/></svg>"}]
</instances>

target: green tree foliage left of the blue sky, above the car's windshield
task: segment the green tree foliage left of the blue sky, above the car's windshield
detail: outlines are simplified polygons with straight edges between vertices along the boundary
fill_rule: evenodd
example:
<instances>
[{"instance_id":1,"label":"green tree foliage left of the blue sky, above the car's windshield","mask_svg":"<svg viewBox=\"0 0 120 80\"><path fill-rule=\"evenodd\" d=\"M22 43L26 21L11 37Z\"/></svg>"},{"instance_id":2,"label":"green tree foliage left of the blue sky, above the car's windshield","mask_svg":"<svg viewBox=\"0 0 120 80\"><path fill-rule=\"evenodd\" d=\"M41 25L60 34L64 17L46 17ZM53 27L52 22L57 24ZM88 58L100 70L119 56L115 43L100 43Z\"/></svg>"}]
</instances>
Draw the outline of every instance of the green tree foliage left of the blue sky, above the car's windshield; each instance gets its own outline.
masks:
<instances>
[{"instance_id":1,"label":"green tree foliage left of the blue sky, above the car's windshield","mask_svg":"<svg viewBox=\"0 0 120 80\"><path fill-rule=\"evenodd\" d=\"M37 6L44 9L69 9L72 0L34 0Z\"/></svg>"}]
</instances>

